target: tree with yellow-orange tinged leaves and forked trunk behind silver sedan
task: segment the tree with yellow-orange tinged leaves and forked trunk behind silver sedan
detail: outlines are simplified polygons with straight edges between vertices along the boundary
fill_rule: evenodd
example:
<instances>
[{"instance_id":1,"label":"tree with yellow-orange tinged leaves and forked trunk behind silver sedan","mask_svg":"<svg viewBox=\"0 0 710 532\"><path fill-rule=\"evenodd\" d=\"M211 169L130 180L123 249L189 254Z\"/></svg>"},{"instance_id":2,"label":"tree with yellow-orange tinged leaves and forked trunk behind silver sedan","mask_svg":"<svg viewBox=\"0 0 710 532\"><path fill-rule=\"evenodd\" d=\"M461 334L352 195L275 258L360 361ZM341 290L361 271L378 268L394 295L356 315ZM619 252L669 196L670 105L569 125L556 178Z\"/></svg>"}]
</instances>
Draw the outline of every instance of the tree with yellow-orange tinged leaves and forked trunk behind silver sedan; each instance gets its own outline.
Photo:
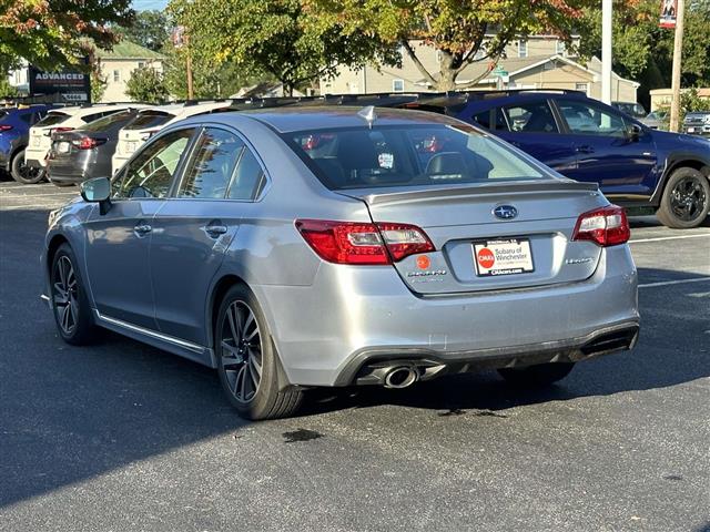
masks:
<instances>
[{"instance_id":1,"label":"tree with yellow-orange tinged leaves and forked trunk behind silver sedan","mask_svg":"<svg viewBox=\"0 0 710 532\"><path fill-rule=\"evenodd\" d=\"M346 37L364 34L385 45L402 47L424 79L447 91L474 86L479 79L457 84L471 63L489 70L511 41L554 32L571 44L575 23L591 0L305 0L323 25L341 24ZM488 34L494 37L488 40ZM438 71L430 71L413 41L438 51ZM481 52L481 53L478 53ZM481 74L481 76L487 75Z\"/></svg>"}]
</instances>

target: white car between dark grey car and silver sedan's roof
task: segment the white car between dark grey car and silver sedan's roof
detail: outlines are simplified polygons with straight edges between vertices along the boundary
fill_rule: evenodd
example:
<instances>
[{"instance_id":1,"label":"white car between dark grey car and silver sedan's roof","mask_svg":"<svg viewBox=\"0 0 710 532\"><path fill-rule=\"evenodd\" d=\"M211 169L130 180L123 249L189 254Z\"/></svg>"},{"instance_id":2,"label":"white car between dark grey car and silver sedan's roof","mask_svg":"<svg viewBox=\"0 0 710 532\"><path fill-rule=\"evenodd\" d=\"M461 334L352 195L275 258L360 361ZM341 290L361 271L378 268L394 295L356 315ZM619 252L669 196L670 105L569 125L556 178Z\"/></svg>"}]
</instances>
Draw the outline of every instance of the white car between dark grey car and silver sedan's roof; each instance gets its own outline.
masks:
<instances>
[{"instance_id":1,"label":"white car between dark grey car and silver sedan's roof","mask_svg":"<svg viewBox=\"0 0 710 532\"><path fill-rule=\"evenodd\" d=\"M131 158L133 152L166 125L189 116L224 110L231 104L232 102L226 100L156 105L141 110L138 116L119 132L119 143L111 157L112 172L115 174Z\"/></svg>"}]
</instances>

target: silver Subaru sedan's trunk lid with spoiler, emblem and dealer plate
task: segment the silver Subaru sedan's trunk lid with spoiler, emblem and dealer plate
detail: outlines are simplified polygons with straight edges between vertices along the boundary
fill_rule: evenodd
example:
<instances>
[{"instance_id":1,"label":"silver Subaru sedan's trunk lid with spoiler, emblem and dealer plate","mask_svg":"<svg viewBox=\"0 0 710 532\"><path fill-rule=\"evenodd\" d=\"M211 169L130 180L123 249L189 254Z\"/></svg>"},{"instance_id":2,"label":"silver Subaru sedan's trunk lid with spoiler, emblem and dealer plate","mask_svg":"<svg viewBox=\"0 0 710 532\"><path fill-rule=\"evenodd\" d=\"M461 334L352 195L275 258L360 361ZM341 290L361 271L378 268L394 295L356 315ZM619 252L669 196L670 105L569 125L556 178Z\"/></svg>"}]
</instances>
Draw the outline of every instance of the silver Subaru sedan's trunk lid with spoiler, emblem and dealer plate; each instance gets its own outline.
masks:
<instances>
[{"instance_id":1,"label":"silver Subaru sedan's trunk lid with spoiler, emblem and dealer plate","mask_svg":"<svg viewBox=\"0 0 710 532\"><path fill-rule=\"evenodd\" d=\"M606 203L596 184L537 180L339 193L364 201L375 223L413 224L428 235L436 252L395 263L419 294L580 282L601 255L596 244L571 239L579 214ZM515 216L499 217L513 209Z\"/></svg>"}]
</instances>

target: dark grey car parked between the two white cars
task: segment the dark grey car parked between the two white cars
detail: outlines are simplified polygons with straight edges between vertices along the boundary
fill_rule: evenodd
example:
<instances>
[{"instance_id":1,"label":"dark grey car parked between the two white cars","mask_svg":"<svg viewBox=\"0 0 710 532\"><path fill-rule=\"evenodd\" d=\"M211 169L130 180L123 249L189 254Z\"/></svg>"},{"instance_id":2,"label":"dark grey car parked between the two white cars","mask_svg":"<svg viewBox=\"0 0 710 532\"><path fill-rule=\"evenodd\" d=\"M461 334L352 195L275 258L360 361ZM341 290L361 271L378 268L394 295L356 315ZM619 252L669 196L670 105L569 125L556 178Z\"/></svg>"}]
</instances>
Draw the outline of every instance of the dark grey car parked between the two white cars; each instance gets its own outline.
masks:
<instances>
[{"instance_id":1,"label":"dark grey car parked between the two white cars","mask_svg":"<svg viewBox=\"0 0 710 532\"><path fill-rule=\"evenodd\" d=\"M136 114L136 109L126 109L75 130L52 133L47 165L49 180L62 186L111 175L111 156L119 142L119 131Z\"/></svg>"}]
</instances>

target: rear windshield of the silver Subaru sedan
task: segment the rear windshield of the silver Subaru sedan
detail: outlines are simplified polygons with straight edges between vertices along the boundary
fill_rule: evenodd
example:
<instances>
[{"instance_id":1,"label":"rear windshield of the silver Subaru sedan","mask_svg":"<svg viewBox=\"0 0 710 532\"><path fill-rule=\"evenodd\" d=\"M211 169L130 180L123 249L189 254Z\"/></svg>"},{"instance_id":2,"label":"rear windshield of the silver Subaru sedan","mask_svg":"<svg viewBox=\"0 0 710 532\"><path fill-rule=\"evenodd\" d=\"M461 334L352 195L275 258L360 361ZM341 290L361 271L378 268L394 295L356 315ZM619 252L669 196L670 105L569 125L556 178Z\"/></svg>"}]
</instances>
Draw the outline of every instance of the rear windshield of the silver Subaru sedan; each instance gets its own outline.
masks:
<instances>
[{"instance_id":1,"label":"rear windshield of the silver Subaru sedan","mask_svg":"<svg viewBox=\"0 0 710 532\"><path fill-rule=\"evenodd\" d=\"M331 190L551 178L465 126L301 131L284 140Z\"/></svg>"}]
</instances>

